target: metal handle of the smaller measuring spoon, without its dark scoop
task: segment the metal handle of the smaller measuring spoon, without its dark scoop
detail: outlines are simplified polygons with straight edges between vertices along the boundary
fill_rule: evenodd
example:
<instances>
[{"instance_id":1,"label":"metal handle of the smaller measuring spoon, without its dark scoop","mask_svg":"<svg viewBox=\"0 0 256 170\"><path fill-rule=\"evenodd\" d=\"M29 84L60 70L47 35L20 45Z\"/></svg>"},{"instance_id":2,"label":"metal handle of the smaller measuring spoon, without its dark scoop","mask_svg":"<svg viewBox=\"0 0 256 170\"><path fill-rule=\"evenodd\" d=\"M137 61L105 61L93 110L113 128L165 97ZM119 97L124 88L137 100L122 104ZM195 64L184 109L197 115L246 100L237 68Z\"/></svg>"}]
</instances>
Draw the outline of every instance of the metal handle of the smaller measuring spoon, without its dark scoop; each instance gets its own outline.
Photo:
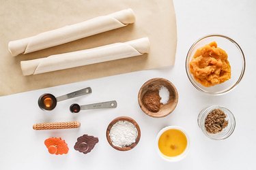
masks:
<instances>
[{"instance_id":1,"label":"metal handle of the smaller measuring spoon, without its dark scoop","mask_svg":"<svg viewBox=\"0 0 256 170\"><path fill-rule=\"evenodd\" d=\"M84 109L115 108L115 107L117 107L117 101L106 101L106 102L102 102L102 103L81 105L80 107L82 110L84 110Z\"/></svg>"}]
</instances>

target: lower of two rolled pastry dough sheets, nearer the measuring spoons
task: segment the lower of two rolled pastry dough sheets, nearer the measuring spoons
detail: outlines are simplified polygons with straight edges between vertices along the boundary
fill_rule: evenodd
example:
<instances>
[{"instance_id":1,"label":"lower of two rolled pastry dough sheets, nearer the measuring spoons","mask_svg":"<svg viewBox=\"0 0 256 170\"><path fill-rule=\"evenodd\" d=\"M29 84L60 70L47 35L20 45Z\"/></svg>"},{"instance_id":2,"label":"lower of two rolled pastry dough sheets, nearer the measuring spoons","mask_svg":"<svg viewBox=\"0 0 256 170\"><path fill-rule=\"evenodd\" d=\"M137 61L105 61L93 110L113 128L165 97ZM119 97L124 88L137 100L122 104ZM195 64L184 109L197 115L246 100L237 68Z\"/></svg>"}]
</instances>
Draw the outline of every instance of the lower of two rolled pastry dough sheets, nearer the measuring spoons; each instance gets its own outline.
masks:
<instances>
[{"instance_id":1,"label":"lower of two rolled pastry dough sheets, nearer the measuring spoons","mask_svg":"<svg viewBox=\"0 0 256 170\"><path fill-rule=\"evenodd\" d=\"M30 61L21 61L20 67L23 75L32 75L139 56L149 53L149 51L150 40L147 37L143 37L124 43L109 44L98 48L55 54Z\"/></svg>"}]
</instances>

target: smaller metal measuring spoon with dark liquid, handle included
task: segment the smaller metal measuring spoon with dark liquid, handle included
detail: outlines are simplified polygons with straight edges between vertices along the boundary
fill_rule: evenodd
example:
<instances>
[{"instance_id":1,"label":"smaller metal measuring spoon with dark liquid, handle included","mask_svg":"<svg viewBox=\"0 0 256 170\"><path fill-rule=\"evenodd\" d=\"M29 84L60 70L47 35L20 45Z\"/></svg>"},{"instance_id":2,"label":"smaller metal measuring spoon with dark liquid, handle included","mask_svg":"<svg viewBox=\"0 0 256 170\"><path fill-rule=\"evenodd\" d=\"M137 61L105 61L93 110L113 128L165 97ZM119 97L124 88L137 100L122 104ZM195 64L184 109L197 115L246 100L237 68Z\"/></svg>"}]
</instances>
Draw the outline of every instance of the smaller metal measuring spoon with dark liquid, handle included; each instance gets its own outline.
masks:
<instances>
[{"instance_id":1,"label":"smaller metal measuring spoon with dark liquid, handle included","mask_svg":"<svg viewBox=\"0 0 256 170\"><path fill-rule=\"evenodd\" d=\"M115 108L117 107L117 101L106 101L102 103L94 103L89 105L79 105L79 104L72 104L70 105L70 112L73 114L79 113L80 110L85 109L103 109L103 108Z\"/></svg>"}]
</instances>

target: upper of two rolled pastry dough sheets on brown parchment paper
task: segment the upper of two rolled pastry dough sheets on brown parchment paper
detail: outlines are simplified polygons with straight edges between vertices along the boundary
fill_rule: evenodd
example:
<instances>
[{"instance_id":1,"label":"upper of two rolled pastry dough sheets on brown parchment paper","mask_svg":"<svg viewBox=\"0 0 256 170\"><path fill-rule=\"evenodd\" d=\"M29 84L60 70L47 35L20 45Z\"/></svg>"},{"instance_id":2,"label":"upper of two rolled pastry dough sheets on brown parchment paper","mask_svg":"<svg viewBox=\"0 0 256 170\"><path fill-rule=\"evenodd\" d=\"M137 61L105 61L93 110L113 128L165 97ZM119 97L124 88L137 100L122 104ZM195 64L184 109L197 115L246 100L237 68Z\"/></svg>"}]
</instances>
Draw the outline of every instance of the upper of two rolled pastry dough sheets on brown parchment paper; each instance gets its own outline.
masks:
<instances>
[{"instance_id":1,"label":"upper of two rolled pastry dough sheets on brown parchment paper","mask_svg":"<svg viewBox=\"0 0 256 170\"><path fill-rule=\"evenodd\" d=\"M40 33L33 37L10 41L8 48L12 56L27 54L124 27L134 21L135 16L131 9L122 10L106 16L98 16L84 22Z\"/></svg>"}]
</instances>

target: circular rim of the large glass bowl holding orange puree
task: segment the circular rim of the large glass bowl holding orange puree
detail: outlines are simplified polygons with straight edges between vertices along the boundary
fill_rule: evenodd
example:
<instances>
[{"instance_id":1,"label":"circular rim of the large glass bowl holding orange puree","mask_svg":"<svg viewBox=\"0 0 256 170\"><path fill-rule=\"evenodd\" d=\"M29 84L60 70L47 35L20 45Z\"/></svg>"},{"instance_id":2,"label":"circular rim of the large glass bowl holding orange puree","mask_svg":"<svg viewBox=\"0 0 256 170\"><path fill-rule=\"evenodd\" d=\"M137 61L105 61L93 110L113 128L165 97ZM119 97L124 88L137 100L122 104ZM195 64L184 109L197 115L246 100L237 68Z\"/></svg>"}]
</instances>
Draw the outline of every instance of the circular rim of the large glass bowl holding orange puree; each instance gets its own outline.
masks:
<instances>
[{"instance_id":1,"label":"circular rim of the large glass bowl holding orange puree","mask_svg":"<svg viewBox=\"0 0 256 170\"><path fill-rule=\"evenodd\" d=\"M192 75L190 75L190 71L188 68L188 60L189 60L189 56L191 54L191 51L195 48L195 46L199 43L199 41L206 39L208 37L222 37L225 38L229 41L231 41L231 43L233 43L236 48L238 48L238 50L240 51L240 56L242 56L242 71L240 73L240 77L238 78L238 80L236 81L235 84L233 84L230 88L227 88L226 90L222 90L219 92L210 92L208 90L203 90L202 88L200 88L199 86L197 86L197 84L195 84L195 81L192 78ZM201 92L205 92L209 95L224 95L227 92L230 92L231 90L233 90L233 88L235 88L239 82L242 80L243 76L244 76L244 71L245 71L245 67L246 67L246 61L245 61L245 56L244 56L244 52L242 51L242 48L239 46L239 44L234 41L233 39L231 39L230 37L227 37L225 35L221 35L221 34L210 34L210 35L205 35L199 39L197 39L197 41L195 41L195 43L189 48L188 53L186 54L186 63L185 63L185 67L186 67L186 75L188 76L189 81L191 82L191 84L193 84L193 86L195 86L195 88L197 88L197 90L201 91Z\"/></svg>"}]
</instances>

